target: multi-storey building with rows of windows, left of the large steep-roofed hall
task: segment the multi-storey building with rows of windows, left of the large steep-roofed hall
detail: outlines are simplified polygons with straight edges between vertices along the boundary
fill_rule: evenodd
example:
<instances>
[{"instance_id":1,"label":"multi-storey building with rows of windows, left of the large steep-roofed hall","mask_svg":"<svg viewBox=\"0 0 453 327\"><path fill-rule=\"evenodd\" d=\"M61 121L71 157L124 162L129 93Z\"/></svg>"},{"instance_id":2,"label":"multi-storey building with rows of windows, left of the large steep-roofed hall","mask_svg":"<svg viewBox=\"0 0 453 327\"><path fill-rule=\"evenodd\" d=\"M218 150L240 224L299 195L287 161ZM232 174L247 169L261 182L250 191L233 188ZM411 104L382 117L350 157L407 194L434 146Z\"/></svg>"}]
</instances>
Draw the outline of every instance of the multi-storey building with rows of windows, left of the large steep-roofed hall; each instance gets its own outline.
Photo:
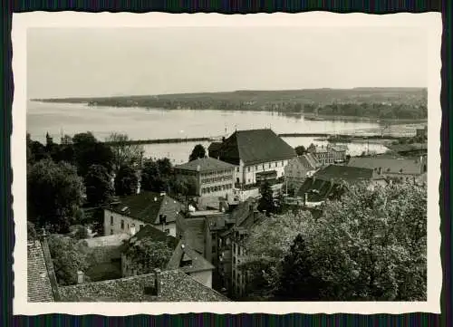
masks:
<instances>
[{"instance_id":1,"label":"multi-storey building with rows of windows, left of the large steep-roofed hall","mask_svg":"<svg viewBox=\"0 0 453 327\"><path fill-rule=\"evenodd\" d=\"M213 158L202 158L175 167L178 178L185 178L197 197L227 197L233 193L235 167Z\"/></svg>"}]
</instances>

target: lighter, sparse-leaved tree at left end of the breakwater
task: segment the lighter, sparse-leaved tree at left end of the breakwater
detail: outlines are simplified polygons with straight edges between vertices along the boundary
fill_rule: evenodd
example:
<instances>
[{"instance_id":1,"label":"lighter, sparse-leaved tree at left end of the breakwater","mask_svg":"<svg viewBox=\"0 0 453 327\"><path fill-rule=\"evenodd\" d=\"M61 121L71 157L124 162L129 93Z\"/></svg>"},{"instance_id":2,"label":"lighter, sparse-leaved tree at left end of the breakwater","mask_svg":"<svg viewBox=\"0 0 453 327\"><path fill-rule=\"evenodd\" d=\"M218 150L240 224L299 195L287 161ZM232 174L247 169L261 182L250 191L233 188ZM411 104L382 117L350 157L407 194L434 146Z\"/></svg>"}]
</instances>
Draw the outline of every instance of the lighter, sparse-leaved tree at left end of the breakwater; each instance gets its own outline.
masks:
<instances>
[{"instance_id":1,"label":"lighter, sparse-leaved tree at left end of the breakwater","mask_svg":"<svg viewBox=\"0 0 453 327\"><path fill-rule=\"evenodd\" d=\"M112 133L106 141L111 143L113 170L115 172L118 172L124 166L140 165L145 150L140 144L130 144L128 135Z\"/></svg>"}]
</instances>

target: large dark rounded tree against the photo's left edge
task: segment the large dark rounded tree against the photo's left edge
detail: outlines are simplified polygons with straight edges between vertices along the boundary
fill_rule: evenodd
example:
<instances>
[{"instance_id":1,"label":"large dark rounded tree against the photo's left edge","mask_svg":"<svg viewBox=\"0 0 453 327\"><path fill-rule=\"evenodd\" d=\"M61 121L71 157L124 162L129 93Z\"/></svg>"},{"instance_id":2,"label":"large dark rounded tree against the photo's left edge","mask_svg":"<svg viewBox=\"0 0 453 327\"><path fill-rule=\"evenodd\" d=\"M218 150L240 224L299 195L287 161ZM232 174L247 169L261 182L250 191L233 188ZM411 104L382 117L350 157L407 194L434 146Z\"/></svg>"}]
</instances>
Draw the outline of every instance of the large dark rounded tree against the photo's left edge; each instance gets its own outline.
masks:
<instances>
[{"instance_id":1,"label":"large dark rounded tree against the photo's left edge","mask_svg":"<svg viewBox=\"0 0 453 327\"><path fill-rule=\"evenodd\" d=\"M83 183L75 167L43 159L27 169L27 215L37 227L67 232L82 206Z\"/></svg>"}]
</instances>

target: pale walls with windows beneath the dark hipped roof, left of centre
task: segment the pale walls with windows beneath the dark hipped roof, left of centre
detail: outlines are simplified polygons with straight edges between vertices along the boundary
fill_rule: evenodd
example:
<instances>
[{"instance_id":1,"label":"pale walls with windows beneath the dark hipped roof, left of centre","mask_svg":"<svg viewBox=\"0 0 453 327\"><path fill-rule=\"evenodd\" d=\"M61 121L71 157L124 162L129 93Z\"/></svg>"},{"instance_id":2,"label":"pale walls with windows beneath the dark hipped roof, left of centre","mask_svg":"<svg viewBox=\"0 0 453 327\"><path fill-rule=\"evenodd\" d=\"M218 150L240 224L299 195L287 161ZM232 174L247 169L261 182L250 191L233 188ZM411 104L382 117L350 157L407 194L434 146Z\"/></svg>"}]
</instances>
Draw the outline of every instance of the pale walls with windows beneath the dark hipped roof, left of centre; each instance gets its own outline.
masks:
<instances>
[{"instance_id":1,"label":"pale walls with windows beneath the dark hipped roof, left of centre","mask_svg":"<svg viewBox=\"0 0 453 327\"><path fill-rule=\"evenodd\" d=\"M130 216L120 215L116 212L113 212L109 209L104 209L104 235L113 235L121 233L129 233L130 228L135 226L135 231L139 232L140 226L146 226L151 224L146 224L141 220L131 218ZM170 236L176 237L176 223L169 223L163 225L151 225L155 228L165 232L167 231Z\"/></svg>"}]
</instances>

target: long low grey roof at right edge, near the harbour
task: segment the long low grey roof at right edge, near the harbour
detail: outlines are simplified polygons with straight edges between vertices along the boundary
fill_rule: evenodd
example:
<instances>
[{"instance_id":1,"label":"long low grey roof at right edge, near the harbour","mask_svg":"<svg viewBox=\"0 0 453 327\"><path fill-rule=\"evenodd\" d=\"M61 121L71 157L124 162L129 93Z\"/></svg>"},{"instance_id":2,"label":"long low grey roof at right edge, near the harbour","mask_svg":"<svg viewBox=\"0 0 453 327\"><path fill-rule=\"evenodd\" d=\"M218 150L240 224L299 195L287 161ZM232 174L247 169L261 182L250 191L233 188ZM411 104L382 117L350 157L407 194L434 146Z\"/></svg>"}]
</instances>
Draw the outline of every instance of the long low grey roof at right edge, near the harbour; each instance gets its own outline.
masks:
<instances>
[{"instance_id":1,"label":"long low grey roof at right edge, near the harbour","mask_svg":"<svg viewBox=\"0 0 453 327\"><path fill-rule=\"evenodd\" d=\"M421 175L422 163L419 159L390 159L380 157L354 157L348 162L350 167L381 168L381 173Z\"/></svg>"}]
</instances>

